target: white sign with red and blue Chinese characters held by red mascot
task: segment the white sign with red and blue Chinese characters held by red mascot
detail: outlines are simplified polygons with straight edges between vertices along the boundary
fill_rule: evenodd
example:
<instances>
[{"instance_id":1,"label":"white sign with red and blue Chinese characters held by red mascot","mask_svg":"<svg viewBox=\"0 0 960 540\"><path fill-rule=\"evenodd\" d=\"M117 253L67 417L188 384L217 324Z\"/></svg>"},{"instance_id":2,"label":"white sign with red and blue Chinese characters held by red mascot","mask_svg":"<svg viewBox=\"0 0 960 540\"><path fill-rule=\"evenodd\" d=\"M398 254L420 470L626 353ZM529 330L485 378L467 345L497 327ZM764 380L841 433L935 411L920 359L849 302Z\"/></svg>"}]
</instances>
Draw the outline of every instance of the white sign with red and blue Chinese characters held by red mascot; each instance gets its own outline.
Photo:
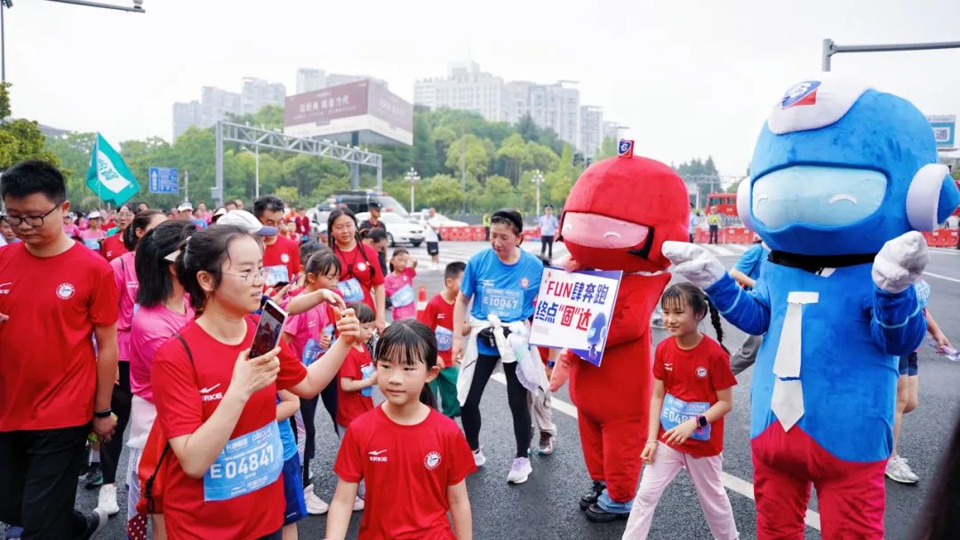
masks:
<instances>
[{"instance_id":1,"label":"white sign with red and blue Chinese characters held by red mascot","mask_svg":"<svg viewBox=\"0 0 960 540\"><path fill-rule=\"evenodd\" d=\"M599 366L622 271L543 269L530 344L566 348Z\"/></svg>"}]
</instances>

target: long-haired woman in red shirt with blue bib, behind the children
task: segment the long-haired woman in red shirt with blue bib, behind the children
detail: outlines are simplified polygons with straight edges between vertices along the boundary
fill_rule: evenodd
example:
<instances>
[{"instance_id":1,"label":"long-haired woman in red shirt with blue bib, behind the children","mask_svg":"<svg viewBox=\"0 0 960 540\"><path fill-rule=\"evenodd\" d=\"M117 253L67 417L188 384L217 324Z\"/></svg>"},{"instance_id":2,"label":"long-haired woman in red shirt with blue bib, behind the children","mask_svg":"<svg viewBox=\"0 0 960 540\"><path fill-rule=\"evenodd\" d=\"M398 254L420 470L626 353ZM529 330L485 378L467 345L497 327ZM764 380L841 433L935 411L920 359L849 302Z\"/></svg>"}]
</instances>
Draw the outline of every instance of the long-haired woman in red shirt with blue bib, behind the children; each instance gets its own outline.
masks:
<instances>
[{"instance_id":1,"label":"long-haired woman in red shirt with blue bib, behind the children","mask_svg":"<svg viewBox=\"0 0 960 540\"><path fill-rule=\"evenodd\" d=\"M348 208L337 208L326 219L327 243L340 259L340 283L337 288L348 303L363 302L376 314L377 332L387 327L386 293L383 271L376 251L360 240L357 219Z\"/></svg>"}]
</instances>

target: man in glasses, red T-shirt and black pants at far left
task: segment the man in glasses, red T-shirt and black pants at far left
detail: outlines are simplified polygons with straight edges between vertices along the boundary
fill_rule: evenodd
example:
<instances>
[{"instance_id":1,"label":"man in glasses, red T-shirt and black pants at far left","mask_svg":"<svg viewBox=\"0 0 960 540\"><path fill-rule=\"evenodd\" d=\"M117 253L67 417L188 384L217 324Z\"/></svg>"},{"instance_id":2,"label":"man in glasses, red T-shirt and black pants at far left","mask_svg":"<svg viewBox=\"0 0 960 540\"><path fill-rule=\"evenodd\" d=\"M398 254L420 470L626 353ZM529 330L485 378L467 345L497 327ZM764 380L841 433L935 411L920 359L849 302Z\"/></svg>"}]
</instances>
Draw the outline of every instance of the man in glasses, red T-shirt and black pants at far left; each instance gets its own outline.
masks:
<instances>
[{"instance_id":1,"label":"man in glasses, red T-shirt and black pants at far left","mask_svg":"<svg viewBox=\"0 0 960 540\"><path fill-rule=\"evenodd\" d=\"M89 538L107 512L74 504L91 424L102 441L116 425L113 271L64 234L70 202L55 167L13 165L0 196L22 240L0 249L0 521L24 538Z\"/></svg>"}]
</instances>

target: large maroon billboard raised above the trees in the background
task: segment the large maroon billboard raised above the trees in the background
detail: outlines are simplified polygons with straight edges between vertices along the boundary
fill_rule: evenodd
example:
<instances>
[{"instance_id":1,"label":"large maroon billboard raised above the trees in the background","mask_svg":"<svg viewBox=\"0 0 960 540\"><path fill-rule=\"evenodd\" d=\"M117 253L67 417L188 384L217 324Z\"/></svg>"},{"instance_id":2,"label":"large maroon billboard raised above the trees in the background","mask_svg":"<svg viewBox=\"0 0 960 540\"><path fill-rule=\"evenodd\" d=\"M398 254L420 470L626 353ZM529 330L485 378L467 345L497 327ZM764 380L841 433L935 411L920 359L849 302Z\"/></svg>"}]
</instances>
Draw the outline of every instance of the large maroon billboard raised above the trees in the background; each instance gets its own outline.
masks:
<instances>
[{"instance_id":1,"label":"large maroon billboard raised above the trees in the background","mask_svg":"<svg viewBox=\"0 0 960 540\"><path fill-rule=\"evenodd\" d=\"M414 106L386 86L358 81L296 96L284 104L283 132L295 137L323 137L362 144L414 142Z\"/></svg>"}]
</instances>

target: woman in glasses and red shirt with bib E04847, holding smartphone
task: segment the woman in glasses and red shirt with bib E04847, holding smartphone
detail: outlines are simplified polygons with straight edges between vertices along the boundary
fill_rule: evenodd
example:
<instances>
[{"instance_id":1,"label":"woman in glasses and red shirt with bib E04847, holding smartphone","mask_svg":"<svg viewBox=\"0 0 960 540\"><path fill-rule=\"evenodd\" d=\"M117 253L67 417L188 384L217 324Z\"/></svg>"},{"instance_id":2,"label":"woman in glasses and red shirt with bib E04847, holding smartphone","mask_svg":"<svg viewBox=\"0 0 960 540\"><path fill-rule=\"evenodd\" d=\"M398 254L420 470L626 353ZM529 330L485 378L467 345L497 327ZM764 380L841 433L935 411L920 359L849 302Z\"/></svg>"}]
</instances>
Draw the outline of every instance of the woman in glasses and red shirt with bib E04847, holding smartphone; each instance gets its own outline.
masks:
<instances>
[{"instance_id":1,"label":"woman in glasses and red shirt with bib E04847, holding smartphone","mask_svg":"<svg viewBox=\"0 0 960 540\"><path fill-rule=\"evenodd\" d=\"M256 240L214 225L180 248L176 264L199 317L160 347L153 366L156 421L173 451L162 494L167 537L278 539L284 495L276 391L320 393L360 324L344 310L340 339L309 367L285 344L251 358L249 314L260 307L264 279Z\"/></svg>"}]
</instances>

